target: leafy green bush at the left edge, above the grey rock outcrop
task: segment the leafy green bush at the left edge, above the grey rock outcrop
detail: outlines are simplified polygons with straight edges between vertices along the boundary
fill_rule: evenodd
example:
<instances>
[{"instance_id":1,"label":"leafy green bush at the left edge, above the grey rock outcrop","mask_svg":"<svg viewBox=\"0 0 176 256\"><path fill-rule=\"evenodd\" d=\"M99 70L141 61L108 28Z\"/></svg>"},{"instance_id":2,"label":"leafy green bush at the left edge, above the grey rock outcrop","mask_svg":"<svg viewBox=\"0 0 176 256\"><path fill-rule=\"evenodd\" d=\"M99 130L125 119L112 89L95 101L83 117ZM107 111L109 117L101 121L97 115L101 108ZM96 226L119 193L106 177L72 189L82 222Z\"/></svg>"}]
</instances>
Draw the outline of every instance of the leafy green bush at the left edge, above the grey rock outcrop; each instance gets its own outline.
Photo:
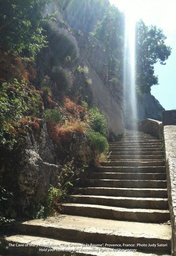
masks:
<instances>
[{"instance_id":1,"label":"leafy green bush at the left edge, above the grey rock outcrop","mask_svg":"<svg viewBox=\"0 0 176 256\"><path fill-rule=\"evenodd\" d=\"M13 147L17 123L23 115L38 115L40 95L17 79L0 87L0 146ZM35 125L35 124L34 124ZM36 124L37 125L37 124Z\"/></svg>"}]
</instances>

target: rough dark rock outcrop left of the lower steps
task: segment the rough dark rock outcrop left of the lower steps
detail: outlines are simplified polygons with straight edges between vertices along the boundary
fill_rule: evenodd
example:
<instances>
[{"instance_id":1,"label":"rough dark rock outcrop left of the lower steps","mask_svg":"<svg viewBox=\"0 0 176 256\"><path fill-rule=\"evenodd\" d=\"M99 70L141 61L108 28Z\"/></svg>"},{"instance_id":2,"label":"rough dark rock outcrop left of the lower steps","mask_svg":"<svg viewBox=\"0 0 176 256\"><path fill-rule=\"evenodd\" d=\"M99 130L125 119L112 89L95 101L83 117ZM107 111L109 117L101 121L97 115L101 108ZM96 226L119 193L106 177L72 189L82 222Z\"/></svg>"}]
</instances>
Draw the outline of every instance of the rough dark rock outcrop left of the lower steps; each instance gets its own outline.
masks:
<instances>
[{"instance_id":1,"label":"rough dark rock outcrop left of the lower steps","mask_svg":"<svg viewBox=\"0 0 176 256\"><path fill-rule=\"evenodd\" d=\"M95 159L85 135L72 134L71 141L59 149L49 138L46 121L40 121L40 130L26 127L12 156L6 159L4 184L18 202L20 212L24 213L31 203L37 205L45 200L50 184L55 184L65 153L68 161L75 157L79 164L90 165Z\"/></svg>"}]
</instances>

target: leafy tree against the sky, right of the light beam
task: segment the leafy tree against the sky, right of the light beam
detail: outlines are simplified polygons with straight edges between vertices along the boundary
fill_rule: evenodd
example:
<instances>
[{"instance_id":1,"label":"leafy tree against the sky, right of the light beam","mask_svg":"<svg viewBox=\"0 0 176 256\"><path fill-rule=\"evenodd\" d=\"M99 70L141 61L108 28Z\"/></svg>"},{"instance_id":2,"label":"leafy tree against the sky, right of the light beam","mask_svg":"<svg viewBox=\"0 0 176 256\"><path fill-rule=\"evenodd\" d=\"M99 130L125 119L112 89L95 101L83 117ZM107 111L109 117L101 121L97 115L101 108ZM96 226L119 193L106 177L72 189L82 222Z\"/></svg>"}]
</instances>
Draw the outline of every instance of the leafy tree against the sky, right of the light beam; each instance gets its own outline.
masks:
<instances>
[{"instance_id":1,"label":"leafy tree against the sky, right of the light beam","mask_svg":"<svg viewBox=\"0 0 176 256\"><path fill-rule=\"evenodd\" d=\"M171 54L170 46L164 44L166 36L156 26L146 26L142 20L136 24L136 88L138 93L150 92L158 84L154 75L154 64L165 65Z\"/></svg>"}]
</instances>

